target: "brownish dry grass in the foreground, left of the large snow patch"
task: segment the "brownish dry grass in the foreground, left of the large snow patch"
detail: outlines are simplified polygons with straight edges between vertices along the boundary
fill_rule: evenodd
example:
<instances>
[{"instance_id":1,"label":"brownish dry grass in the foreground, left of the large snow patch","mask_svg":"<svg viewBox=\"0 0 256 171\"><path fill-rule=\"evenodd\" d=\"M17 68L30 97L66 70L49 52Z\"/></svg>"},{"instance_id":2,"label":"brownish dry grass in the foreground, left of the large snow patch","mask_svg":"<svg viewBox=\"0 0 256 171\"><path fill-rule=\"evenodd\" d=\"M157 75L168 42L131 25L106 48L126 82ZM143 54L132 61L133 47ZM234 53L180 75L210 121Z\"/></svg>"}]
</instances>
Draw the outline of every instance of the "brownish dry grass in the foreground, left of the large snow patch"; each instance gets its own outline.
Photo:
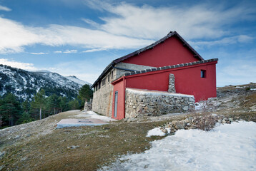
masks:
<instances>
[{"instance_id":1,"label":"brownish dry grass in the foreground, left of the large snow patch","mask_svg":"<svg viewBox=\"0 0 256 171\"><path fill-rule=\"evenodd\" d=\"M147 130L162 125L153 123L112 123L81 128L64 128L19 145L5 147L0 160L3 170L97 170L127 152L149 149ZM68 149L79 145L76 149Z\"/></svg>"}]
</instances>

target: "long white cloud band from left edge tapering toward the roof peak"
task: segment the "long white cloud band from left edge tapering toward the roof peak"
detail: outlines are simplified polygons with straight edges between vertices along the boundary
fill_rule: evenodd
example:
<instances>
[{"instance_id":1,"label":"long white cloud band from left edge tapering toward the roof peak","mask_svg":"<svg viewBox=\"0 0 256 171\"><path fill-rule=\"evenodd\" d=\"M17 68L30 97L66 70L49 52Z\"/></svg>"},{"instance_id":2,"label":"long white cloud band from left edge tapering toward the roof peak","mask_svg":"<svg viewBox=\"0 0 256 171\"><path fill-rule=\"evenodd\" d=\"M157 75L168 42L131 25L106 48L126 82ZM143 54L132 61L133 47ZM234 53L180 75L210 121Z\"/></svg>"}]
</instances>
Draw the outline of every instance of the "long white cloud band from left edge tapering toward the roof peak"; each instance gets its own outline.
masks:
<instances>
[{"instance_id":1,"label":"long white cloud band from left edge tapering toward the roof peak","mask_svg":"<svg viewBox=\"0 0 256 171\"><path fill-rule=\"evenodd\" d=\"M82 46L84 48L135 48L152 41L115 36L111 33L76 26L50 25L46 28L23 26L0 17L0 53L19 53L24 46ZM74 53L74 51L73 51Z\"/></svg>"}]
</instances>

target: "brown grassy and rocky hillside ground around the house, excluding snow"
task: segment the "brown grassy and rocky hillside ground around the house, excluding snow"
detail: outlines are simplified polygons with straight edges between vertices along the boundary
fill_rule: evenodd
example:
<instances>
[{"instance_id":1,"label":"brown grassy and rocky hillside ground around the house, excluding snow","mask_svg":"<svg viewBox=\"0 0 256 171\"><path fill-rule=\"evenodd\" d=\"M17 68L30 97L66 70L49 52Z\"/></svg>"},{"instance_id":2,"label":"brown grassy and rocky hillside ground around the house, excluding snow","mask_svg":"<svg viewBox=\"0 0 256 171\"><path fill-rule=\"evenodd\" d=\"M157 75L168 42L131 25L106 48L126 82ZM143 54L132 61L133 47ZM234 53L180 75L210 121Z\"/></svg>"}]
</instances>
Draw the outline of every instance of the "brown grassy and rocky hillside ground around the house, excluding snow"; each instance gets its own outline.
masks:
<instances>
[{"instance_id":1,"label":"brown grassy and rocky hillside ground around the house, excluding snow","mask_svg":"<svg viewBox=\"0 0 256 171\"><path fill-rule=\"evenodd\" d=\"M0 130L0 170L97 170L127 152L147 150L152 140L161 139L146 138L152 128L162 127L163 132L171 128L174 133L197 128L205 117L212 117L214 123L256 122L256 84L217 88L217 98L202 101L196 108L200 110L56 130L61 119L84 117L72 110L6 128Z\"/></svg>"}]
</instances>

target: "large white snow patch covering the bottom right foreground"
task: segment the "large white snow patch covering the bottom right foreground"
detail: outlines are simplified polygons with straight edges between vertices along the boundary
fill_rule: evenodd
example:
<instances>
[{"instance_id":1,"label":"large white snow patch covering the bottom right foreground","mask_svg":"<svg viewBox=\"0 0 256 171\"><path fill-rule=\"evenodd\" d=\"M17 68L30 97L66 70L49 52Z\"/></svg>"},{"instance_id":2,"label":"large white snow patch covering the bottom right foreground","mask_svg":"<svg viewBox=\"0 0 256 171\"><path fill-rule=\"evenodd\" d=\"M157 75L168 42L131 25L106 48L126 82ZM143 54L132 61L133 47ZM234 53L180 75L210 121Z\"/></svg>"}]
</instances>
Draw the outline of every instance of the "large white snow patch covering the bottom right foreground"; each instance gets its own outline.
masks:
<instances>
[{"instance_id":1,"label":"large white snow patch covering the bottom right foreground","mask_svg":"<svg viewBox=\"0 0 256 171\"><path fill-rule=\"evenodd\" d=\"M178 130L102 170L256 170L256 123L218 125L210 132Z\"/></svg>"}]
</instances>

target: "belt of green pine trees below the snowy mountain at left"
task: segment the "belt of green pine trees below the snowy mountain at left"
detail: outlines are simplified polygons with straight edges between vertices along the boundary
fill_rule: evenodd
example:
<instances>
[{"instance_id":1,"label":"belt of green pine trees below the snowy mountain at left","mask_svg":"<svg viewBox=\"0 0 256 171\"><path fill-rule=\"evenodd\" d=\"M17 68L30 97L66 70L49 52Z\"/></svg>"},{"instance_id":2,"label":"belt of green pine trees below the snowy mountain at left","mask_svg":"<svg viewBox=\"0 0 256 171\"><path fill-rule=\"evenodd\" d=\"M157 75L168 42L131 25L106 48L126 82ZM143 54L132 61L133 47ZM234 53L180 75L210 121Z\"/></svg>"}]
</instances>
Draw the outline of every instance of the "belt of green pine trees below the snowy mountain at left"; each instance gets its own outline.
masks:
<instances>
[{"instance_id":1,"label":"belt of green pine trees below the snowy mountain at left","mask_svg":"<svg viewBox=\"0 0 256 171\"><path fill-rule=\"evenodd\" d=\"M12 93L6 93L0 96L0 128L41 120L67 110L82 109L84 101L90 98L92 89L88 85L79 90L77 98L55 93L47 95L44 89L40 89L31 101L23 101Z\"/></svg>"}]
</instances>

